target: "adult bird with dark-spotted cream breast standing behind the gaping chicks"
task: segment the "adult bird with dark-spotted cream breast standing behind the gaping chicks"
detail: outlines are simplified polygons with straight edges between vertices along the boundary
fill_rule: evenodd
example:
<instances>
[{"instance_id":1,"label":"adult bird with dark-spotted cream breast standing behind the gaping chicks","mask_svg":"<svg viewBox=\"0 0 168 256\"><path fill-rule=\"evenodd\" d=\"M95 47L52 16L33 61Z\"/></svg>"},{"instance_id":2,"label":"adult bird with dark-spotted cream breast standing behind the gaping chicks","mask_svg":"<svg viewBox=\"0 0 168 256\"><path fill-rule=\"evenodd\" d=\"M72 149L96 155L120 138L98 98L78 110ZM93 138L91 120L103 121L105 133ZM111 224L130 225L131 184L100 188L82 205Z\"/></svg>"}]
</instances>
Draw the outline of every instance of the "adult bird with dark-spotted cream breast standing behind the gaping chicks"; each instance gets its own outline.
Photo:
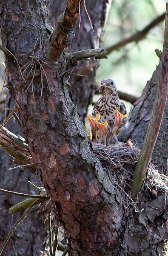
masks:
<instances>
[{"instance_id":1,"label":"adult bird with dark-spotted cream breast standing behind the gaping chicks","mask_svg":"<svg viewBox=\"0 0 168 256\"><path fill-rule=\"evenodd\" d=\"M124 116L126 108L124 103L120 100L117 92L117 87L113 79L103 79L98 90L102 93L101 98L94 105L92 115L95 117L100 113L100 123L105 120L112 128L115 119L115 109Z\"/></svg>"}]
</instances>

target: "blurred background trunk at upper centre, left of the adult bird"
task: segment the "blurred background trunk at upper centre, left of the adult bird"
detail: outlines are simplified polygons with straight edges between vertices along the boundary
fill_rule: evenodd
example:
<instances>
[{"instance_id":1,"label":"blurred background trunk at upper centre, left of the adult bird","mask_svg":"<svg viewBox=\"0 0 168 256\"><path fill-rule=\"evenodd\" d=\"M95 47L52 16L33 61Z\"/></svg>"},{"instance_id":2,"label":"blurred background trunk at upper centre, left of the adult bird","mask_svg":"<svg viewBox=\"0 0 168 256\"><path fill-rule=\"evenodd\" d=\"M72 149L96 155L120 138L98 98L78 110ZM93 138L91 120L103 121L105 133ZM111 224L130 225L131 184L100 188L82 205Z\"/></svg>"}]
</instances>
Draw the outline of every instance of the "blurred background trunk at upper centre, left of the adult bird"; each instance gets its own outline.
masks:
<instances>
[{"instance_id":1,"label":"blurred background trunk at upper centre, left of the adult bird","mask_svg":"<svg viewBox=\"0 0 168 256\"><path fill-rule=\"evenodd\" d=\"M56 26L57 18L61 15L65 9L67 0L59 2L51 0L48 2L48 11L52 14L49 15L51 26ZM79 20L76 27L73 27L73 31L76 36L71 40L71 51L76 52L84 49L99 48L101 46L103 26L106 23L109 8L111 6L111 0L86 0L86 8L91 18L91 22L94 27L94 32L91 29L88 16L85 12L84 6L81 9L81 24L79 27ZM68 47L70 52L70 46ZM77 105L77 113L80 116L82 122L85 121L85 117L88 112L88 106L91 104L92 97L96 89L96 70L99 60L88 58L83 61L79 61L77 67L74 68L72 73L86 75L88 77L72 76L69 79L71 84L71 92L74 100L74 104Z\"/></svg>"}]
</instances>

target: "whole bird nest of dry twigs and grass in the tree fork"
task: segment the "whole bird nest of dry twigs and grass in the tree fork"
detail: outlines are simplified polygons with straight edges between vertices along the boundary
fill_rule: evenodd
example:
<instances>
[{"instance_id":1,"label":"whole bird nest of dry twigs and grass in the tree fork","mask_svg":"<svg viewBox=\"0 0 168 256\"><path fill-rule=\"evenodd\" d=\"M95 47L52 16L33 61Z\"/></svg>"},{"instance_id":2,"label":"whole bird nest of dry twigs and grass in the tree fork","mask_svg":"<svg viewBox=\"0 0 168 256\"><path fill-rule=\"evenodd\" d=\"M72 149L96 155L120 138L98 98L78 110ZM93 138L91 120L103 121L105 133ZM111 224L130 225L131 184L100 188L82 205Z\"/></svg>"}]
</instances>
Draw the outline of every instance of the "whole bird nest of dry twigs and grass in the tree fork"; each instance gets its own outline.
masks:
<instances>
[{"instance_id":1,"label":"whole bird nest of dry twigs and grass in the tree fork","mask_svg":"<svg viewBox=\"0 0 168 256\"><path fill-rule=\"evenodd\" d=\"M131 182L140 149L136 144L131 143L131 140L128 140L127 143L121 145L93 143L93 151L106 169L111 183L116 187L122 204L125 205L125 214L127 215L129 209L132 208L131 204L134 203L131 198ZM168 177L160 174L150 164L139 204L142 205L151 200L151 198L155 198L157 195L167 191Z\"/></svg>"}]
</instances>

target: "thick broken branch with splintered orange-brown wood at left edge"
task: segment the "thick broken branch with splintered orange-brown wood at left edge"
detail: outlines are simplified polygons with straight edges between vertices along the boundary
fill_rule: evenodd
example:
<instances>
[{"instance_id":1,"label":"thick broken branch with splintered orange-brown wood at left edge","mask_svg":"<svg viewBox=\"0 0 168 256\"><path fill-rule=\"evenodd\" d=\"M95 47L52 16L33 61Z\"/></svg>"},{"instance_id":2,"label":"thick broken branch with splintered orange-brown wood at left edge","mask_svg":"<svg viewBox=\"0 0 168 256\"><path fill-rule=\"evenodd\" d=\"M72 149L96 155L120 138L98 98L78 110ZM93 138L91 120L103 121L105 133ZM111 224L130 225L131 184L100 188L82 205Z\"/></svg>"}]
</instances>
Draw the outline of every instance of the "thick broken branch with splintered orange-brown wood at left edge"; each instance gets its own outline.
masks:
<instances>
[{"instance_id":1,"label":"thick broken branch with splintered orange-brown wood at left edge","mask_svg":"<svg viewBox=\"0 0 168 256\"><path fill-rule=\"evenodd\" d=\"M28 145L21 136L17 136L5 127L0 125L0 148L3 148L12 157L14 157L14 163L18 163L20 165L33 163L31 154L28 150ZM32 172L36 172L37 166L25 166L27 169Z\"/></svg>"}]
</instances>

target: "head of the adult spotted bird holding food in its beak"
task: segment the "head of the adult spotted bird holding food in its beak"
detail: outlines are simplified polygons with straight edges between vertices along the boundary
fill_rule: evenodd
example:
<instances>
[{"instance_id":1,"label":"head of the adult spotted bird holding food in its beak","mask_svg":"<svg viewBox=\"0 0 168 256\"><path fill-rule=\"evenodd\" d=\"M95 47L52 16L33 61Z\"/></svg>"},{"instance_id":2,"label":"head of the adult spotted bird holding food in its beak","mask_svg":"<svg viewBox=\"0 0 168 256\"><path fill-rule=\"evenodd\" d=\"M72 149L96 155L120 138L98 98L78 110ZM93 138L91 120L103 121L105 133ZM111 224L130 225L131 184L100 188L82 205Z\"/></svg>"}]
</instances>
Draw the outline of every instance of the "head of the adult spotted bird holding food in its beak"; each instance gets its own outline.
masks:
<instances>
[{"instance_id":1,"label":"head of the adult spotted bird holding food in its beak","mask_svg":"<svg viewBox=\"0 0 168 256\"><path fill-rule=\"evenodd\" d=\"M113 93L114 96L117 95L117 87L112 79L103 79L98 90L103 94Z\"/></svg>"}]
</instances>

